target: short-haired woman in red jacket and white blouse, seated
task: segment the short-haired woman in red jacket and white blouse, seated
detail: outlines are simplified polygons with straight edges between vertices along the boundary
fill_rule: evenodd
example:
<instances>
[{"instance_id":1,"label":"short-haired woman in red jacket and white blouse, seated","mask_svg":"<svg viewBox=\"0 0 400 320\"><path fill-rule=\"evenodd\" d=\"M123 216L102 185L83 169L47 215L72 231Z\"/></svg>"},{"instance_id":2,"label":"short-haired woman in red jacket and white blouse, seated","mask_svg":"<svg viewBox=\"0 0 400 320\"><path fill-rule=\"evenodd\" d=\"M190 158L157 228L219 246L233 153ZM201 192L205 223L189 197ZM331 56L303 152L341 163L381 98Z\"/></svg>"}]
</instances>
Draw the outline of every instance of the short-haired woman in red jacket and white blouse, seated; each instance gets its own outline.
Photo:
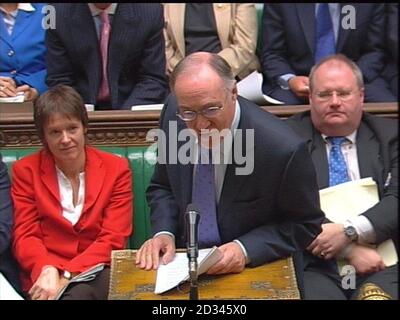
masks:
<instances>
[{"instance_id":1,"label":"short-haired woman in red jacket and white blouse, seated","mask_svg":"<svg viewBox=\"0 0 400 320\"><path fill-rule=\"evenodd\" d=\"M34 120L44 148L15 162L13 250L23 289L54 299L69 278L110 264L132 232L128 161L86 145L88 116L79 94L59 85L39 97ZM62 299L107 299L109 268L71 284Z\"/></svg>"}]
</instances>

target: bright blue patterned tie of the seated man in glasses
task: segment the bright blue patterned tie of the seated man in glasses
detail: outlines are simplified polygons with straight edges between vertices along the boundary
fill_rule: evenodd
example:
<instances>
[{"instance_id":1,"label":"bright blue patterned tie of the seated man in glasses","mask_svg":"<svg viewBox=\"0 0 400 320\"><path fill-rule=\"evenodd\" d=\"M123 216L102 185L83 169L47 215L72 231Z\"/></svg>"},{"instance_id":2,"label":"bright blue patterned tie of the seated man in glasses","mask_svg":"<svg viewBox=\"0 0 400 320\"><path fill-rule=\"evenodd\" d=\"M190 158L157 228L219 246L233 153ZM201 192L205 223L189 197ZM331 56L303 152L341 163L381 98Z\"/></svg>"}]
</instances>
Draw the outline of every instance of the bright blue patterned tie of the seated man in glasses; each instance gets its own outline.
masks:
<instances>
[{"instance_id":1,"label":"bright blue patterned tie of the seated man in glasses","mask_svg":"<svg viewBox=\"0 0 400 320\"><path fill-rule=\"evenodd\" d=\"M329 152L329 186L332 187L349 181L347 165L341 150L341 145L346 138L329 137L328 140L331 142L331 151Z\"/></svg>"}]
</instances>

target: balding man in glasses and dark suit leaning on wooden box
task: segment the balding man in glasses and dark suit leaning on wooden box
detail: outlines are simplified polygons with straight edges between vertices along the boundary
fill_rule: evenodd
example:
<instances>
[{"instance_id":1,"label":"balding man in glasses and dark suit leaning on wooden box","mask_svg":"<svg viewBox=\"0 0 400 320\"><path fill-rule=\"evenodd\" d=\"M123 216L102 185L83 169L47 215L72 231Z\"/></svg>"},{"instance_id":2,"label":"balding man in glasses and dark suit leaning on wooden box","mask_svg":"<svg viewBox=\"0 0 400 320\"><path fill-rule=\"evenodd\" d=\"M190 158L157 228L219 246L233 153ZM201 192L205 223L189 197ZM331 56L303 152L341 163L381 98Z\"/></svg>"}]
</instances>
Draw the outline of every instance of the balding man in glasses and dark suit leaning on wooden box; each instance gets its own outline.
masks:
<instances>
[{"instance_id":1,"label":"balding man in glasses and dark suit leaning on wooden box","mask_svg":"<svg viewBox=\"0 0 400 320\"><path fill-rule=\"evenodd\" d=\"M147 190L154 236L139 250L137 264L157 268L160 253L168 263L176 246L185 247L185 210L192 201L201 203L194 196L200 175L197 156L189 164L180 157L188 143L197 153L211 149L213 157L222 153L220 159L227 155L231 159L213 166L210 188L202 190L215 187L209 211L215 209L216 217L208 227L219 233L219 240L206 246L217 245L223 253L209 274L241 272L246 265L258 266L305 249L320 232L322 221L305 144L280 119L237 96L229 65L216 54L187 56L172 73L170 87L173 94L160 119L169 138L158 149L170 152L165 164L156 164ZM182 141L187 128L194 139ZM201 223L208 213L200 210L199 243L203 242Z\"/></svg>"}]
</instances>

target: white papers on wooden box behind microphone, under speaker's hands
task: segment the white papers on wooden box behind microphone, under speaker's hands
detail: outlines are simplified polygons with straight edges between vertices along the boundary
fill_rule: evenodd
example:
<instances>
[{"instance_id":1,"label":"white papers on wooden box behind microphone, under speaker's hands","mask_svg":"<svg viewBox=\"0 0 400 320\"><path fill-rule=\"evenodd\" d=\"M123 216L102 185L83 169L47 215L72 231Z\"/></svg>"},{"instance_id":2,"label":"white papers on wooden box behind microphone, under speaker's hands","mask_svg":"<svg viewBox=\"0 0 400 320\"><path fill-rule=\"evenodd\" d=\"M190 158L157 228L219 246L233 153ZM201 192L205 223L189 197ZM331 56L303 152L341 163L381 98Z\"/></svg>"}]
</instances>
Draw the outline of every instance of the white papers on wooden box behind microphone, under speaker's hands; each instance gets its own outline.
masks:
<instances>
[{"instance_id":1,"label":"white papers on wooden box behind microphone, under speaker's hands","mask_svg":"<svg viewBox=\"0 0 400 320\"><path fill-rule=\"evenodd\" d=\"M222 256L217 247L199 250L197 258L198 274L207 272ZM186 252L177 252L174 260L168 264L160 264L157 270L155 294L168 291L189 279L189 265Z\"/></svg>"}]
</instances>

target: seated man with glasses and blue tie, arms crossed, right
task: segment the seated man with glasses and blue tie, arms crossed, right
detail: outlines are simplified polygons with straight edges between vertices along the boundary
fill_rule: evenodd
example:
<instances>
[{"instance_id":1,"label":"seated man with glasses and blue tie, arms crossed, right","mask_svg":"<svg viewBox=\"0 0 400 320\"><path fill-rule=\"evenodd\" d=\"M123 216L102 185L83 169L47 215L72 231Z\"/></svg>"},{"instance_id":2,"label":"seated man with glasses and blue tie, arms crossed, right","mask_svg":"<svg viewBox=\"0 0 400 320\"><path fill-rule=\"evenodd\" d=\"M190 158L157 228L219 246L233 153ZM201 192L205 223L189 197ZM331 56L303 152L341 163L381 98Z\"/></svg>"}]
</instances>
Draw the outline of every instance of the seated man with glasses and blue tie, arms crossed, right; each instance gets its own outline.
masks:
<instances>
[{"instance_id":1,"label":"seated man with glasses and blue tie, arms crossed, right","mask_svg":"<svg viewBox=\"0 0 400 320\"><path fill-rule=\"evenodd\" d=\"M311 110L288 123L308 144L319 188L334 185L331 141L343 137L340 151L347 180L372 177L380 201L343 224L325 221L308 247L310 254L305 254L305 298L355 298L362 284L372 282L397 299L397 264L385 267L370 245L392 239L398 250L398 123L363 112L362 73L343 55L329 56L313 67L309 99ZM338 270L331 268L334 258L345 258L355 268L355 290L342 287Z\"/></svg>"}]
</instances>

